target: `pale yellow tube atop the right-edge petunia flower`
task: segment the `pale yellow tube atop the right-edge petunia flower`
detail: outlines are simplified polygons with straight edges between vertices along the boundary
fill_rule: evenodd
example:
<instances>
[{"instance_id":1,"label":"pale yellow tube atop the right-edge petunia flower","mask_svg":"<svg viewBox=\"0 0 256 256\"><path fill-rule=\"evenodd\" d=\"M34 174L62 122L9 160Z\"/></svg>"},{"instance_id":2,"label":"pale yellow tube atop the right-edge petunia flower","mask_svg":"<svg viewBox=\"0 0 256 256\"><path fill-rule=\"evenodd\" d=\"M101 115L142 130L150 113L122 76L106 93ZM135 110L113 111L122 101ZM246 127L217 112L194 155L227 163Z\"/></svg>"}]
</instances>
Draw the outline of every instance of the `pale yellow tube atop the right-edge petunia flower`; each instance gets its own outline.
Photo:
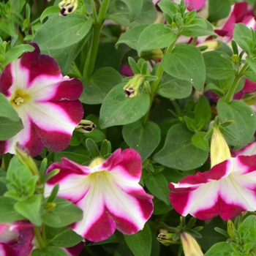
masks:
<instances>
[{"instance_id":1,"label":"pale yellow tube atop the right-edge petunia flower","mask_svg":"<svg viewBox=\"0 0 256 256\"><path fill-rule=\"evenodd\" d=\"M228 148L222 132L219 131L219 126L214 126L211 137L211 167L230 158L230 148Z\"/></svg>"}]
</instances>

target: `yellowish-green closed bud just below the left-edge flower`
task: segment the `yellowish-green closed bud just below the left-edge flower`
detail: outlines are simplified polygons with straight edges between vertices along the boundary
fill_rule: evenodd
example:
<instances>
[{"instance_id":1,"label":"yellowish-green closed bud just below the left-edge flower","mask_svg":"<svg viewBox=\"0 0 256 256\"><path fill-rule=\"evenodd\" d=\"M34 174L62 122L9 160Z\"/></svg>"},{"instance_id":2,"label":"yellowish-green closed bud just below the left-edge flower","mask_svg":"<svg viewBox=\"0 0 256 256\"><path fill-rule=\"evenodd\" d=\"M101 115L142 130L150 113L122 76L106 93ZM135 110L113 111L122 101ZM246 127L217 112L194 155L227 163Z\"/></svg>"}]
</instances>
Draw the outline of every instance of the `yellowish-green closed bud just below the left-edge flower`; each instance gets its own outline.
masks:
<instances>
[{"instance_id":1,"label":"yellowish-green closed bud just below the left-edge flower","mask_svg":"<svg viewBox=\"0 0 256 256\"><path fill-rule=\"evenodd\" d=\"M16 143L15 153L19 161L26 166L34 176L39 175L37 165L34 163L33 158L29 155L29 149L26 146Z\"/></svg>"}]
</instances>

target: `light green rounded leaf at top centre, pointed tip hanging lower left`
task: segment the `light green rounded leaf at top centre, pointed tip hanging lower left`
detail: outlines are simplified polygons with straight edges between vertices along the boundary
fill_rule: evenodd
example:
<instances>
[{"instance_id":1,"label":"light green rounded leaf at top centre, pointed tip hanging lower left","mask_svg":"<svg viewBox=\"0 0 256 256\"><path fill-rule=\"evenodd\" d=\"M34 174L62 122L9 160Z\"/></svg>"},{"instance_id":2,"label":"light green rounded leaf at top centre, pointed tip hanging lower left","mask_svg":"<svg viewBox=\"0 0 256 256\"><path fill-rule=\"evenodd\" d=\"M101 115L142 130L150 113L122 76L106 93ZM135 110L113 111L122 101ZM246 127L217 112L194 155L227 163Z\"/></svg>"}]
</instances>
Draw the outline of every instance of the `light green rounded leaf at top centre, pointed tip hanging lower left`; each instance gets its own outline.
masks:
<instances>
[{"instance_id":1,"label":"light green rounded leaf at top centre, pointed tip hanging lower left","mask_svg":"<svg viewBox=\"0 0 256 256\"><path fill-rule=\"evenodd\" d=\"M146 27L138 39L138 54L142 51L165 48L173 44L177 39L170 28L165 24L157 23Z\"/></svg>"}]
</instances>

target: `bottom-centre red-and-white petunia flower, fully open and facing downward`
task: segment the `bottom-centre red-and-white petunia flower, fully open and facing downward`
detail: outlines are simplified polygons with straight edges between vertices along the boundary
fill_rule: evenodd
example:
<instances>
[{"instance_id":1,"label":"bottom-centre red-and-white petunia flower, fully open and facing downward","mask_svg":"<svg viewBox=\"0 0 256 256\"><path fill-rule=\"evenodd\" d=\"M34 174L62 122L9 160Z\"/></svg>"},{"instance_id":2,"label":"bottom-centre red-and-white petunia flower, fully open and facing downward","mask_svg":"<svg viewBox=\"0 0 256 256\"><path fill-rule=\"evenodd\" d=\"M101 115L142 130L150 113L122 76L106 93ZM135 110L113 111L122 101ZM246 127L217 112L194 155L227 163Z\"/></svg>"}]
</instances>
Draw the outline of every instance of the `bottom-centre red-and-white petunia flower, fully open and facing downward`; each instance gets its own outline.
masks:
<instances>
[{"instance_id":1,"label":"bottom-centre red-and-white petunia flower, fully open and facing downward","mask_svg":"<svg viewBox=\"0 0 256 256\"><path fill-rule=\"evenodd\" d=\"M89 241L102 241L117 229L131 235L143 229L153 212L152 195L138 184L141 159L137 151L117 149L108 159L94 159L82 166L67 158L47 170L60 172L45 184L45 195L59 184L64 197L83 210L83 219L72 230Z\"/></svg>"}]
</instances>

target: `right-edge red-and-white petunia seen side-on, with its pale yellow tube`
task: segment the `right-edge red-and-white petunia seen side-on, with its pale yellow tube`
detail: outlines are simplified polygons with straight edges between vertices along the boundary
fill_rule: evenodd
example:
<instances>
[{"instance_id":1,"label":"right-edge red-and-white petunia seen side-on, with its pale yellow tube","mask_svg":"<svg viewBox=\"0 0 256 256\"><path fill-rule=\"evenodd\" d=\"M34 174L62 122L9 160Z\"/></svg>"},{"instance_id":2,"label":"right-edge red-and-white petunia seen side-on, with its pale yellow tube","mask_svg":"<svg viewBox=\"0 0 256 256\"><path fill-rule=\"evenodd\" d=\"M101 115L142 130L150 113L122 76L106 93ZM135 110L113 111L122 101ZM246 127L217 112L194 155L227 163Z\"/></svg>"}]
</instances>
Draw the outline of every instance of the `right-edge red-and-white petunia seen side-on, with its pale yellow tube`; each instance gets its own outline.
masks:
<instances>
[{"instance_id":1,"label":"right-edge red-and-white petunia seen side-on, with its pale yellow tube","mask_svg":"<svg viewBox=\"0 0 256 256\"><path fill-rule=\"evenodd\" d=\"M215 138L222 140L213 147L216 151L229 150L222 148L223 137ZM215 143L211 140L211 144ZM218 215L228 220L241 211L256 211L256 155L232 158L230 153L218 155L211 151L211 158L215 155L219 159L211 161L211 170L169 184L173 208L183 216L191 214L203 220Z\"/></svg>"}]
</instances>

